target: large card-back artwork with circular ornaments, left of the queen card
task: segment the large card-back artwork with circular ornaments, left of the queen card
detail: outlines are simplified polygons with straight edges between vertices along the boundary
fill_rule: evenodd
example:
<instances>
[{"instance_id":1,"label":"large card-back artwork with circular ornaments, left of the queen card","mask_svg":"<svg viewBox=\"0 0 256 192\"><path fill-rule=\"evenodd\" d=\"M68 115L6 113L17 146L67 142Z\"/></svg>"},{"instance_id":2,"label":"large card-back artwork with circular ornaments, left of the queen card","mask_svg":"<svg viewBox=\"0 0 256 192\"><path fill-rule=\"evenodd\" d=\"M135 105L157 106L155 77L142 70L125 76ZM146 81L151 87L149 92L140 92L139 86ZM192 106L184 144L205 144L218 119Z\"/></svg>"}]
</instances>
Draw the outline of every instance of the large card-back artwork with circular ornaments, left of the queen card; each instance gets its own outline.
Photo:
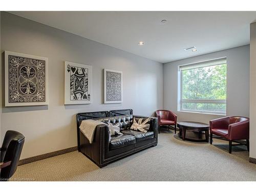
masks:
<instances>
[{"instance_id":1,"label":"large card-back artwork with circular ornaments, left of the queen card","mask_svg":"<svg viewBox=\"0 0 256 192\"><path fill-rule=\"evenodd\" d=\"M48 104L48 58L5 51L5 106Z\"/></svg>"}]
</instances>

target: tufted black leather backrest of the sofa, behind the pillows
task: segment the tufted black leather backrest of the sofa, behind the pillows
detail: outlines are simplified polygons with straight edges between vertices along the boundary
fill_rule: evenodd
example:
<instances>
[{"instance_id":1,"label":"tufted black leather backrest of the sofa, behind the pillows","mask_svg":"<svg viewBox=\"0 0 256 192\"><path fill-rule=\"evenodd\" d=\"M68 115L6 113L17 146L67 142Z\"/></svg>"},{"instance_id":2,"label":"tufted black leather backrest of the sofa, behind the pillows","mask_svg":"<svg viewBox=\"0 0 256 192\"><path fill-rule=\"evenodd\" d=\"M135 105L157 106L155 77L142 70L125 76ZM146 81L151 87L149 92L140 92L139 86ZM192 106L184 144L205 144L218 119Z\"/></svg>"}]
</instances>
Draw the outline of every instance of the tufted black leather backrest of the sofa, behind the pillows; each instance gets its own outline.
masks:
<instances>
[{"instance_id":1,"label":"tufted black leather backrest of the sofa, behind the pillows","mask_svg":"<svg viewBox=\"0 0 256 192\"><path fill-rule=\"evenodd\" d=\"M115 117L97 118L94 120L99 120L104 123L110 122L113 124L119 123L120 130L126 130L133 124L133 115L123 115Z\"/></svg>"}]
</instances>

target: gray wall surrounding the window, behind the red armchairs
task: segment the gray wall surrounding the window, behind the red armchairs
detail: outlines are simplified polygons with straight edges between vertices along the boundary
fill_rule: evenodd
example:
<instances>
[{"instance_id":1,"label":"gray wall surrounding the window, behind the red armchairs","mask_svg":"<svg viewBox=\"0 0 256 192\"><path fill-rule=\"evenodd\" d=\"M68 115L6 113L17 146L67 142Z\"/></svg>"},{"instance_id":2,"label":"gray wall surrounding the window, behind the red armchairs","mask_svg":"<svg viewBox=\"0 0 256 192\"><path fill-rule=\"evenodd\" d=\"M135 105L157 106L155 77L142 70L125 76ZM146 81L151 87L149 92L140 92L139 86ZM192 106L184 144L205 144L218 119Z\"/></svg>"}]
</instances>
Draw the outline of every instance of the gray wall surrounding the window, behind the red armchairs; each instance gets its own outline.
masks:
<instances>
[{"instance_id":1,"label":"gray wall surrounding the window, behind the red armchairs","mask_svg":"<svg viewBox=\"0 0 256 192\"><path fill-rule=\"evenodd\" d=\"M227 115L249 116L249 45L215 53L164 63L163 106L177 113L178 120L201 121L222 117L177 111L178 66L220 57L227 57Z\"/></svg>"}]
</instances>

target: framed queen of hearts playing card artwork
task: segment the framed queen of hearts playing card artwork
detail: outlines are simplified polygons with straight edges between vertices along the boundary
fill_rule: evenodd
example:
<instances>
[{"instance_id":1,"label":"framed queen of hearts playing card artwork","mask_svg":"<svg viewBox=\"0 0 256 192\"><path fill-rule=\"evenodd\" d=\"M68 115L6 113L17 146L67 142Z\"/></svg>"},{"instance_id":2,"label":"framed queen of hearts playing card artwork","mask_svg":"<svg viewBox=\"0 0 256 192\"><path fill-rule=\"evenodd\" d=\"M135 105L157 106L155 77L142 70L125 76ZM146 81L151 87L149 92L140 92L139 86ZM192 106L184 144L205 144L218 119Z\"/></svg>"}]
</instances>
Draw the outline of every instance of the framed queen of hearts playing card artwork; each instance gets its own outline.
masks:
<instances>
[{"instance_id":1,"label":"framed queen of hearts playing card artwork","mask_svg":"<svg viewBox=\"0 0 256 192\"><path fill-rule=\"evenodd\" d=\"M65 62L65 104L92 103L92 66Z\"/></svg>"}]
</instances>

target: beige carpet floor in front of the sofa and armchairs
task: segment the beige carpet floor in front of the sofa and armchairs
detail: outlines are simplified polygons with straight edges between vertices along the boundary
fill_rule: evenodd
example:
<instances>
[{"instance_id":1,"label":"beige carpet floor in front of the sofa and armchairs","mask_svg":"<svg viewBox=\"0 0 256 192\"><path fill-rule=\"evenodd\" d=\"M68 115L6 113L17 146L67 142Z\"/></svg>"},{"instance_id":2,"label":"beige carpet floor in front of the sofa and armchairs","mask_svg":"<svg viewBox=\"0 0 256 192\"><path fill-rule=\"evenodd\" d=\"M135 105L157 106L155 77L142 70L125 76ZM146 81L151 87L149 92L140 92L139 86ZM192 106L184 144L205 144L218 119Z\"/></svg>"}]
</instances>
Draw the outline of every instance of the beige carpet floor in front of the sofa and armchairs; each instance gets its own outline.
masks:
<instances>
[{"instance_id":1,"label":"beige carpet floor in front of the sofa and armchairs","mask_svg":"<svg viewBox=\"0 0 256 192\"><path fill-rule=\"evenodd\" d=\"M245 146L227 152L227 141L214 145L182 141L172 132L159 134L156 147L103 168L72 152L18 166L12 180L32 181L256 181L256 164Z\"/></svg>"}]
</instances>

